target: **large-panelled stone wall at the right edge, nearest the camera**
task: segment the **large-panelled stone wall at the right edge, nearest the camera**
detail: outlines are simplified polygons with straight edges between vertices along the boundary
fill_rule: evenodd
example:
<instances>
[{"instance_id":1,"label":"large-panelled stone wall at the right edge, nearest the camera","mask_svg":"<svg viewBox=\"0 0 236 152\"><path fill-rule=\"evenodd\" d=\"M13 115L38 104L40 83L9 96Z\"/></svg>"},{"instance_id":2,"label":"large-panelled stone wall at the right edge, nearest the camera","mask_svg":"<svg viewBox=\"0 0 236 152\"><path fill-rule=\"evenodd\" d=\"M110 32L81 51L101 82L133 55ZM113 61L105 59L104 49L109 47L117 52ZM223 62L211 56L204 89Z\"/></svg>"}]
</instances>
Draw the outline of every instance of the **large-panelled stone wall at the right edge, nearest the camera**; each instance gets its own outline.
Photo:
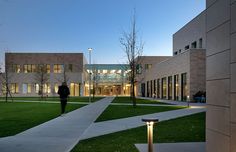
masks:
<instances>
[{"instance_id":1,"label":"large-panelled stone wall at the right edge, nearest the camera","mask_svg":"<svg viewBox=\"0 0 236 152\"><path fill-rule=\"evenodd\" d=\"M207 152L236 152L236 0L207 0Z\"/></svg>"}]
</instances>

